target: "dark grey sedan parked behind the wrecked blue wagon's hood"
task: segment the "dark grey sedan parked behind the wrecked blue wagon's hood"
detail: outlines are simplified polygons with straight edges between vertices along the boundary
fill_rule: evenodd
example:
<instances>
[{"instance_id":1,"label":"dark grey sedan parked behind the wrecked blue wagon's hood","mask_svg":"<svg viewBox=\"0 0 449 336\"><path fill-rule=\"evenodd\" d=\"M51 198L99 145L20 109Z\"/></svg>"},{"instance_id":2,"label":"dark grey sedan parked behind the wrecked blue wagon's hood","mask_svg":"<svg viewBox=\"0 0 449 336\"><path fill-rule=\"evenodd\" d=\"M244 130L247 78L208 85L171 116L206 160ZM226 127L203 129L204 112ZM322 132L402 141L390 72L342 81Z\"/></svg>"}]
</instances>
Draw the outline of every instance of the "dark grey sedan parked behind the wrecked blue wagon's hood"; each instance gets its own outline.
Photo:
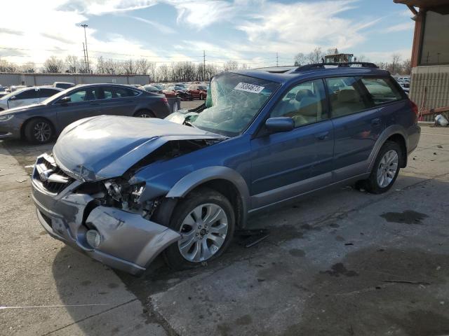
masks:
<instances>
[{"instance_id":1,"label":"dark grey sedan parked behind the wrecked blue wagon's hood","mask_svg":"<svg viewBox=\"0 0 449 336\"><path fill-rule=\"evenodd\" d=\"M103 114L165 118L168 113L167 99L160 94L118 84L79 85L40 104L1 112L0 139L25 137L44 144L82 118Z\"/></svg>"}]
</instances>

